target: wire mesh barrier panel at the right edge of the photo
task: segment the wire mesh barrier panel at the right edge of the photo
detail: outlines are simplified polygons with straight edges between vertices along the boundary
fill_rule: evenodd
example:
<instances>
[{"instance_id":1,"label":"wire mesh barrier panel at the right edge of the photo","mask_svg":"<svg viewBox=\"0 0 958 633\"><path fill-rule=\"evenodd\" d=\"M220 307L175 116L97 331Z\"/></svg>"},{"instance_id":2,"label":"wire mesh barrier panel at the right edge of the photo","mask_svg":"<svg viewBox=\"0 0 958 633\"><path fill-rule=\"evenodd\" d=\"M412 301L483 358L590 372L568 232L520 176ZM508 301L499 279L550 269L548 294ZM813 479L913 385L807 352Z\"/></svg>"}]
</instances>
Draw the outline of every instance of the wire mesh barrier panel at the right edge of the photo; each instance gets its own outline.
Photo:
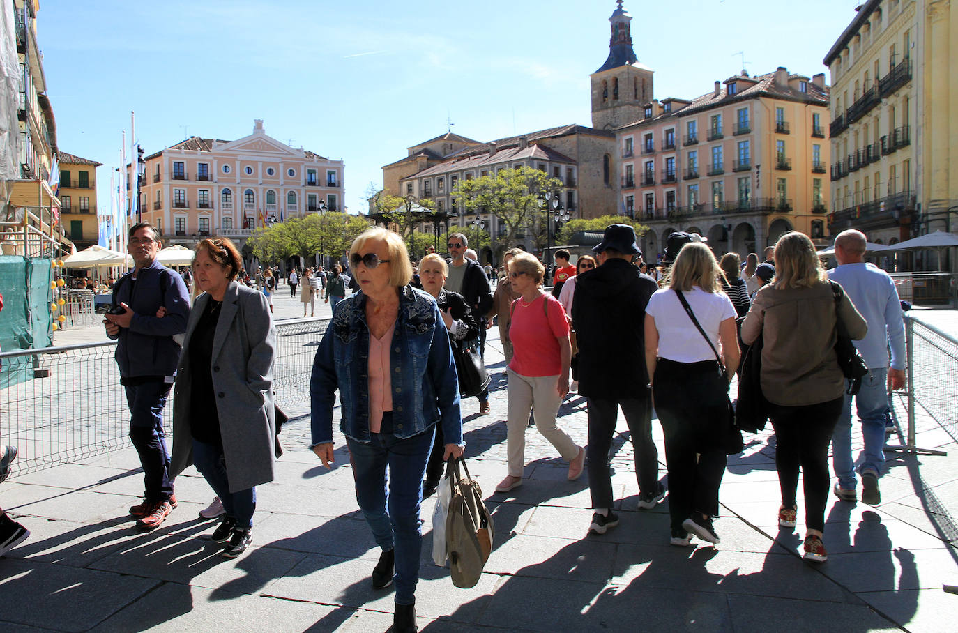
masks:
<instances>
[{"instance_id":1,"label":"wire mesh barrier panel at the right edge of the photo","mask_svg":"<svg viewBox=\"0 0 958 633\"><path fill-rule=\"evenodd\" d=\"M904 315L904 328L908 355L906 443L885 450L946 455L945 451L919 448L916 440L925 427L938 426L952 441L958 441L958 340L909 314ZM917 417L918 408L927 418Z\"/></svg>"}]
</instances>

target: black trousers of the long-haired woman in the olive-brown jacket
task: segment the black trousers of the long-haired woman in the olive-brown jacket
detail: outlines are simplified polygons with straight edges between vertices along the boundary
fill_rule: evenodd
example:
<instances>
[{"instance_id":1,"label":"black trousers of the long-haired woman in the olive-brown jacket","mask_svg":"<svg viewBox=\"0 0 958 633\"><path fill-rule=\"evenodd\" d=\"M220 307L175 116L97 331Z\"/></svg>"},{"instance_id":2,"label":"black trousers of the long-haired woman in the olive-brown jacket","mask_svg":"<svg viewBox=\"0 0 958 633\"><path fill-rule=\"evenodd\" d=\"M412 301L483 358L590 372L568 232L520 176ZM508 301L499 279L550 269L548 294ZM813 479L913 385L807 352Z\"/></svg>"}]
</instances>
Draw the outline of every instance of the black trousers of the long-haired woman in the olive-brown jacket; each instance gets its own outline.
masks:
<instances>
[{"instance_id":1,"label":"black trousers of the long-haired woman in the olive-brown jacket","mask_svg":"<svg viewBox=\"0 0 958 633\"><path fill-rule=\"evenodd\" d=\"M841 413L842 398L805 406L768 403L768 418L775 429L775 469L778 470L782 505L797 508L799 467L805 492L805 527L825 530L829 497L829 441ZM882 433L884 422L882 421Z\"/></svg>"}]
</instances>

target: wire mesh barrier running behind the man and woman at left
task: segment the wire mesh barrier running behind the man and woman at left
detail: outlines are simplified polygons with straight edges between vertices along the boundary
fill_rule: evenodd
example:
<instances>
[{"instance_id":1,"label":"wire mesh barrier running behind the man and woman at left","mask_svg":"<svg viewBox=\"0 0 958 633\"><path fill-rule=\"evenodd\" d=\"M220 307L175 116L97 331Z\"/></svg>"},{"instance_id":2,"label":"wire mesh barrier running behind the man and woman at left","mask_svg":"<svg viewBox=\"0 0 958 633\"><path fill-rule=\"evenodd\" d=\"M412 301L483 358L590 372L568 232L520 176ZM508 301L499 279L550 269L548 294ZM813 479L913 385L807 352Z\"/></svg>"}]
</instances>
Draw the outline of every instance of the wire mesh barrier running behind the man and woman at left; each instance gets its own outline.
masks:
<instances>
[{"instance_id":1,"label":"wire mesh barrier running behind the man and woman at left","mask_svg":"<svg viewBox=\"0 0 958 633\"><path fill-rule=\"evenodd\" d=\"M277 324L276 402L309 398L316 346L330 319ZM102 455L129 444L129 410L115 341L0 353L0 444L17 448L14 473ZM172 392L164 411L171 437Z\"/></svg>"}]
</instances>

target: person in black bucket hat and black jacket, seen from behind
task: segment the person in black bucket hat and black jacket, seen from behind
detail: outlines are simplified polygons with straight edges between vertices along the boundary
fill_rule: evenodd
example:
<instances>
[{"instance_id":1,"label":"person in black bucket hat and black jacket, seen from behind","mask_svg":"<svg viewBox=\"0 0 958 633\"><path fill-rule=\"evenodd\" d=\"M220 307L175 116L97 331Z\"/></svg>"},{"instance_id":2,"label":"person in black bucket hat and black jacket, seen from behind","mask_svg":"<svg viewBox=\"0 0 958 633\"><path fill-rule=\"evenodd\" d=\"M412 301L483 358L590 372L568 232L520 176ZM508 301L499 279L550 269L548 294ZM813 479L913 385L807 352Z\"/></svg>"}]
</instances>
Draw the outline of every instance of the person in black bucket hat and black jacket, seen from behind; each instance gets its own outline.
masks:
<instances>
[{"instance_id":1,"label":"person in black bucket hat and black jacket, seen from behind","mask_svg":"<svg viewBox=\"0 0 958 633\"><path fill-rule=\"evenodd\" d=\"M652 441L649 374L642 362L646 305L658 285L631 263L632 256L642 253L631 226L606 227L592 250L600 265L576 282L572 322L579 346L579 394L588 407L589 490L595 511L589 531L604 534L619 523L612 511L608 467L619 407L634 449L638 508L652 509L665 496Z\"/></svg>"}]
</instances>

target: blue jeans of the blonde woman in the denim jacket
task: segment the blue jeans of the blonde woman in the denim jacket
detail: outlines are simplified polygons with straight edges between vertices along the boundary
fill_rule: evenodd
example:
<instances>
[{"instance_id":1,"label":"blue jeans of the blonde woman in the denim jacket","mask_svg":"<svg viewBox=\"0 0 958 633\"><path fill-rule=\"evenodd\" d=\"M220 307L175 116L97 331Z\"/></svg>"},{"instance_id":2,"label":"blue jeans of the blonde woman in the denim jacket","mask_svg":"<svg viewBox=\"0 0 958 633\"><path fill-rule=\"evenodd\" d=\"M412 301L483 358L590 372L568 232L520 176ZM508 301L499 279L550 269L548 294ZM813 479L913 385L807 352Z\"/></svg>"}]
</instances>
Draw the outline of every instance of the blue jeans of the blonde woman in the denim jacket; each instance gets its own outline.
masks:
<instances>
[{"instance_id":1,"label":"blue jeans of the blonde woman in the denim jacket","mask_svg":"<svg viewBox=\"0 0 958 633\"><path fill-rule=\"evenodd\" d=\"M396 603L413 604L422 554L422 475L434 429L430 427L419 435L399 440L392 433L392 416L386 414L380 431L370 434L368 444L346 439L356 501L373 531L376 545L384 552L396 550Z\"/></svg>"}]
</instances>

